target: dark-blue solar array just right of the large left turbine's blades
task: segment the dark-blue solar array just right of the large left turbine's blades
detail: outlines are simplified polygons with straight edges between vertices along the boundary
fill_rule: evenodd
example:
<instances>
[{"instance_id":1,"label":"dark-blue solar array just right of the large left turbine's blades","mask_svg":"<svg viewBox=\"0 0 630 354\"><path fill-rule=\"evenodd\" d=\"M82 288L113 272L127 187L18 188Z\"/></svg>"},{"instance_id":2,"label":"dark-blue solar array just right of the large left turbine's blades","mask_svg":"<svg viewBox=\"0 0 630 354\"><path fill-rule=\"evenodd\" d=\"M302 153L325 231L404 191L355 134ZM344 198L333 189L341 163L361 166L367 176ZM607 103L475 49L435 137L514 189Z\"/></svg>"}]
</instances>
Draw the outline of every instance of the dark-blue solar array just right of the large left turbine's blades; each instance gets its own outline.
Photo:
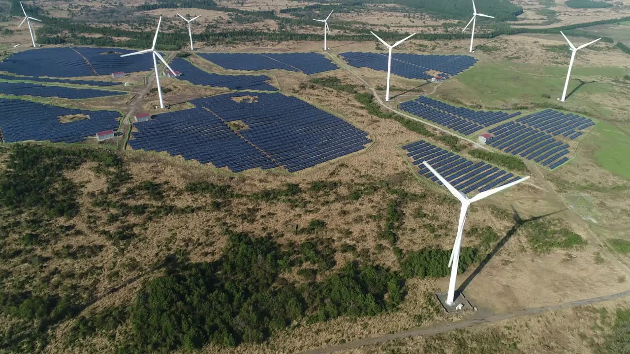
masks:
<instances>
[{"instance_id":1,"label":"dark-blue solar array just right of the large left turbine's blades","mask_svg":"<svg viewBox=\"0 0 630 354\"><path fill-rule=\"evenodd\" d=\"M220 75L205 72L194 66L187 60L181 58L173 59L171 62L173 70L180 71L183 75L178 79L189 81L195 85L214 86L229 89L254 89L260 91L278 91L265 81L271 80L265 75Z\"/></svg>"}]
</instances>

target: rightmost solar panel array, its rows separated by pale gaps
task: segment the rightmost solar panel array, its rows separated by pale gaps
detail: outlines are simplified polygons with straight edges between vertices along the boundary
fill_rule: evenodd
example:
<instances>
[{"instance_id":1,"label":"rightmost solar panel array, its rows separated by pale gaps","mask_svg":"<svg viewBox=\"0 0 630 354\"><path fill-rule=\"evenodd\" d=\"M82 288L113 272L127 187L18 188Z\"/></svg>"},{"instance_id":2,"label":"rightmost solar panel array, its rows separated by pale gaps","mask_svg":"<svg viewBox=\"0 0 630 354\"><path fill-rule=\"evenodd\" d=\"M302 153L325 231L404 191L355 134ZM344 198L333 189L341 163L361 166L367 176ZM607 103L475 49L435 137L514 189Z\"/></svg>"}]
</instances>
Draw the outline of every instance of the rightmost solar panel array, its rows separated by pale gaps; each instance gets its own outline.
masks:
<instances>
[{"instance_id":1,"label":"rightmost solar panel array, its rows separated by pale gaps","mask_svg":"<svg viewBox=\"0 0 630 354\"><path fill-rule=\"evenodd\" d=\"M589 118L548 109L490 129L494 136L486 144L554 169L569 161L569 145L556 137L573 140L592 125Z\"/></svg>"}]
</instances>

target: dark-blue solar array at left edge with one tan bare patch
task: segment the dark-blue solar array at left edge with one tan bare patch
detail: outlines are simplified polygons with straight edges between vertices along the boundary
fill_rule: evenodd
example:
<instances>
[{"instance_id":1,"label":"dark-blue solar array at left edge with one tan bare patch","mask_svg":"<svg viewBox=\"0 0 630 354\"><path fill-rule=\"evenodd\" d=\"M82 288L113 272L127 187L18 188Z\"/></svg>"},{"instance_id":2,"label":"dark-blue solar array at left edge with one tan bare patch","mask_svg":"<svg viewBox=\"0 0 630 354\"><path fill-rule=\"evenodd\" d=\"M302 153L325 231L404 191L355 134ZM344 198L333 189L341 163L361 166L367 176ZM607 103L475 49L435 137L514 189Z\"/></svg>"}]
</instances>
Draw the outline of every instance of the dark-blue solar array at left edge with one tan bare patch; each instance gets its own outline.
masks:
<instances>
[{"instance_id":1,"label":"dark-blue solar array at left edge with one tan bare patch","mask_svg":"<svg viewBox=\"0 0 630 354\"><path fill-rule=\"evenodd\" d=\"M88 111L0 98L0 130L4 142L50 140L79 142L104 130L117 130L118 111ZM88 119L60 123L59 117L84 114Z\"/></svg>"}]
</instances>

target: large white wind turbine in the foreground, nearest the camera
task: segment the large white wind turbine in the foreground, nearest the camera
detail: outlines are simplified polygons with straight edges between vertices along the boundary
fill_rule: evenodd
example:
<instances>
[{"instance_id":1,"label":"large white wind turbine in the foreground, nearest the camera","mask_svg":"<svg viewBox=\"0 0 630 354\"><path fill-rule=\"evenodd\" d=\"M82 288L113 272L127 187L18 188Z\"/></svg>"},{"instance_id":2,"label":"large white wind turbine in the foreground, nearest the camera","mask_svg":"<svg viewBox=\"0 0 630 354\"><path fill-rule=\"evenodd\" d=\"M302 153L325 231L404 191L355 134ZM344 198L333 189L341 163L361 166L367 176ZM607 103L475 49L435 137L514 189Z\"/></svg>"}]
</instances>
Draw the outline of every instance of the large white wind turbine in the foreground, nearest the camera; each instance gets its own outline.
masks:
<instances>
[{"instance_id":1,"label":"large white wind turbine in the foreground, nearest the camera","mask_svg":"<svg viewBox=\"0 0 630 354\"><path fill-rule=\"evenodd\" d=\"M469 199L468 197L466 197L464 193L456 190L454 186L450 185L450 183L447 180L445 180L444 177L442 177L439 173L437 173L437 171L435 171L435 169L433 169L431 165L427 163L427 161L424 161L423 163L425 164L425 166L427 166L429 171L431 171L431 173L433 173L438 178L438 180L440 180L440 182L442 182L442 184L446 186L446 188L450 191L450 193L452 193L452 195L454 195L455 198L457 198L462 203L462 209L459 212L459 226L457 226L457 237L455 237L455 244L453 245L453 251L450 254L450 260L449 260L450 282L449 282L449 292L446 298L446 304L449 306L452 306L454 297L455 297L455 282L457 280L457 266L459 264L459 250L461 249L461 246L462 246L462 234L464 232L464 223L466 222L466 214L468 212L468 207L474 202L478 202L479 200L482 200L483 198L490 197L491 195L498 193L502 190L505 190L506 188L510 188L513 185L517 185L518 183L521 183L522 181L528 180L529 176L525 178L521 178L520 180L517 180L517 181L513 181L512 183L508 183L507 185L493 188L491 190L482 191L478 195Z\"/></svg>"}]
</instances>

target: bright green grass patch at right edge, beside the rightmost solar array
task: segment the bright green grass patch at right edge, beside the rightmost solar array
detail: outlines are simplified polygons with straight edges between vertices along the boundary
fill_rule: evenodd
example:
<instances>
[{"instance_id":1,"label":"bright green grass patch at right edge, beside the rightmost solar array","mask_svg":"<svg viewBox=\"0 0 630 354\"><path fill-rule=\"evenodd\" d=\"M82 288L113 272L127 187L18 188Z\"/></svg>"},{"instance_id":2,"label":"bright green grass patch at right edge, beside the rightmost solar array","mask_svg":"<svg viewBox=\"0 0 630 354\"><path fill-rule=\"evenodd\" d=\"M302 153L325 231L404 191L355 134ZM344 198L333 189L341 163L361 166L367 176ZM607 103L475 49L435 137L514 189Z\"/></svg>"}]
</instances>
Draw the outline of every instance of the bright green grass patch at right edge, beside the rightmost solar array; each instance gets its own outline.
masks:
<instances>
[{"instance_id":1,"label":"bright green grass patch at right edge, beside the rightmost solar array","mask_svg":"<svg viewBox=\"0 0 630 354\"><path fill-rule=\"evenodd\" d=\"M595 159L602 168L630 180L630 164L627 163L630 151L630 137L608 122L595 126L599 133ZM630 130L626 127L624 130Z\"/></svg>"}]
</instances>

